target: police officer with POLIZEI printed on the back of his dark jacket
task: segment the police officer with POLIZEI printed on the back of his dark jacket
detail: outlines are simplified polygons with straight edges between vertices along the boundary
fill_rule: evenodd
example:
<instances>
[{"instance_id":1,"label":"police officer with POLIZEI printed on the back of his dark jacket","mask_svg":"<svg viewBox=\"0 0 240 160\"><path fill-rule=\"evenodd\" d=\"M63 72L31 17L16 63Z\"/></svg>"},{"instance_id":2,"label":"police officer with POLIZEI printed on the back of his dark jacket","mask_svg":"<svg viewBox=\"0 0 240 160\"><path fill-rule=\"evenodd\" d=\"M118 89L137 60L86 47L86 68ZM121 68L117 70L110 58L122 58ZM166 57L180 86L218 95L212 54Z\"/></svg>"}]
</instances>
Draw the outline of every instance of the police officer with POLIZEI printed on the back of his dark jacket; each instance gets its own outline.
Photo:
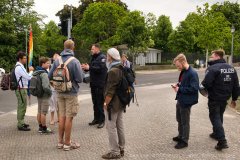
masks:
<instances>
[{"instance_id":1,"label":"police officer with POLIZEI printed on the back of his dark jacket","mask_svg":"<svg viewBox=\"0 0 240 160\"><path fill-rule=\"evenodd\" d=\"M209 118L213 133L209 136L218 141L215 149L228 148L223 128L223 113L227 100L232 96L232 106L236 106L239 93L239 83L236 70L223 59L224 51L212 51L209 67L206 70L202 85L208 91Z\"/></svg>"}]
</instances>

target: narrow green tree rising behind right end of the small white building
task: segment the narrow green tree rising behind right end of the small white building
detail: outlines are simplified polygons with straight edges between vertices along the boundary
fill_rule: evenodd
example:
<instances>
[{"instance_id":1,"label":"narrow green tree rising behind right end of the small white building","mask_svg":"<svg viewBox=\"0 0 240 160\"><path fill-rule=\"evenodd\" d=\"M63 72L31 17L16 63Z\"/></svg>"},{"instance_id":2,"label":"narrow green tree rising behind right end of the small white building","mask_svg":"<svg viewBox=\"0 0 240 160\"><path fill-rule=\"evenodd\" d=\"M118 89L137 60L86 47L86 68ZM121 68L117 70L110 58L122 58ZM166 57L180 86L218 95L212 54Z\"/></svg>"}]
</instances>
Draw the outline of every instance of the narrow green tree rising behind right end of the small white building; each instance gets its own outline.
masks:
<instances>
[{"instance_id":1,"label":"narrow green tree rising behind right end of the small white building","mask_svg":"<svg viewBox=\"0 0 240 160\"><path fill-rule=\"evenodd\" d=\"M172 31L172 23L170 22L169 17L161 15L158 18L157 25L154 29L153 40L155 48L161 49L163 52L168 52L168 36L172 33Z\"/></svg>"}]
</instances>

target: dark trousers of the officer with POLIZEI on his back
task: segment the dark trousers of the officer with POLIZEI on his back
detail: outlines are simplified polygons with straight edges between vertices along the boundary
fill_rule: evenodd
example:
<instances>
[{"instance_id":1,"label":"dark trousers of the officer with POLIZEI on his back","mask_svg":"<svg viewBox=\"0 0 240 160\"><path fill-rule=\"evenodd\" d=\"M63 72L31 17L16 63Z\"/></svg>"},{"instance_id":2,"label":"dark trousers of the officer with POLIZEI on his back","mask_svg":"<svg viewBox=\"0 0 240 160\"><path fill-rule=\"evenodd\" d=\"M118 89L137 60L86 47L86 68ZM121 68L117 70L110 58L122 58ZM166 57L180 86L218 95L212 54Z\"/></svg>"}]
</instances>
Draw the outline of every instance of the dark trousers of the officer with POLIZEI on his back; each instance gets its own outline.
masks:
<instances>
[{"instance_id":1,"label":"dark trousers of the officer with POLIZEI on his back","mask_svg":"<svg viewBox=\"0 0 240 160\"><path fill-rule=\"evenodd\" d=\"M225 112L227 102L208 101L209 118L213 126L213 133L218 140L226 140L223 128L223 113Z\"/></svg>"}]
</instances>

